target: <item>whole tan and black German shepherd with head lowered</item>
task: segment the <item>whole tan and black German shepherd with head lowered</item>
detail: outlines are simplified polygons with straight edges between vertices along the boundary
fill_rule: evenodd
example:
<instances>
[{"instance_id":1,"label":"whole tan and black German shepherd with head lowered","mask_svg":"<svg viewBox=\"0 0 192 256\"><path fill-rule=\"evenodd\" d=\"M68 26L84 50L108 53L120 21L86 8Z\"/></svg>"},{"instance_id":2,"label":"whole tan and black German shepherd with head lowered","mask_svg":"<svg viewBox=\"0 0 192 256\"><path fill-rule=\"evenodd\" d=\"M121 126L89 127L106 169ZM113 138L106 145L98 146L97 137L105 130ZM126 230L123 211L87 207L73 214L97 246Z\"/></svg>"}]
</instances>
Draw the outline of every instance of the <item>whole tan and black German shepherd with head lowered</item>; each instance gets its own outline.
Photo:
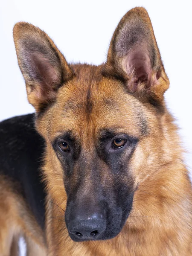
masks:
<instances>
[{"instance_id":1,"label":"whole tan and black German shepherd with head lowered","mask_svg":"<svg viewBox=\"0 0 192 256\"><path fill-rule=\"evenodd\" d=\"M0 124L0 255L191 256L192 187L150 18L131 9L107 61L68 64L13 30L36 113Z\"/></svg>"}]
</instances>

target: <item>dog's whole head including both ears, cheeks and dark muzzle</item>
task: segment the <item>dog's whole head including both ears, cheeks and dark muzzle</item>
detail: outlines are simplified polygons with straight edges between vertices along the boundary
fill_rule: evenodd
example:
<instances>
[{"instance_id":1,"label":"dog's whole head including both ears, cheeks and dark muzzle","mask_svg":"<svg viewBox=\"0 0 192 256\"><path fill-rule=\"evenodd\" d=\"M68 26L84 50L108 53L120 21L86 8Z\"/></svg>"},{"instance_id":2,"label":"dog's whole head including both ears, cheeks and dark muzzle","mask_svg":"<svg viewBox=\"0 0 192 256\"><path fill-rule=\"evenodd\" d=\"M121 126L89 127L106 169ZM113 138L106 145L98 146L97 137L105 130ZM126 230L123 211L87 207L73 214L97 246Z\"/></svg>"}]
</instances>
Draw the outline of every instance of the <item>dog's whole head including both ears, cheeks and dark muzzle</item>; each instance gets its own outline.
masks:
<instances>
[{"instance_id":1,"label":"dog's whole head including both ears, cheeks and dark muzzle","mask_svg":"<svg viewBox=\"0 0 192 256\"><path fill-rule=\"evenodd\" d=\"M68 64L47 34L28 23L15 25L14 40L47 142L49 192L67 194L69 235L111 239L128 218L137 185L163 154L169 80L148 14L135 8L122 18L98 67Z\"/></svg>"}]
</instances>

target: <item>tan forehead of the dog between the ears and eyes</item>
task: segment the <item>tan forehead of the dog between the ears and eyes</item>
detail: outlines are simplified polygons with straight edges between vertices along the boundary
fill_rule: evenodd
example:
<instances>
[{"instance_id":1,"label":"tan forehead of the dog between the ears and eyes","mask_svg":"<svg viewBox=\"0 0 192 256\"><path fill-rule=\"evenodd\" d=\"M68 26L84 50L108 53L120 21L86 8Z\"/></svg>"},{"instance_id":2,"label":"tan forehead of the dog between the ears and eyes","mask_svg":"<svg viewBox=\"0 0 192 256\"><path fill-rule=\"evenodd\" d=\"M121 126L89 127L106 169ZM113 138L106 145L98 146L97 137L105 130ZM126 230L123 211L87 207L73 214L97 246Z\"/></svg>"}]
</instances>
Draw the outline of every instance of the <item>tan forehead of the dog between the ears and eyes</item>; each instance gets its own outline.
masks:
<instances>
[{"instance_id":1,"label":"tan forehead of the dog between the ears and eyes","mask_svg":"<svg viewBox=\"0 0 192 256\"><path fill-rule=\"evenodd\" d=\"M90 76L84 72L61 87L52 115L53 136L72 131L90 137L102 129L116 128L117 132L140 137L147 126L139 100L119 81L98 73Z\"/></svg>"}]
</instances>

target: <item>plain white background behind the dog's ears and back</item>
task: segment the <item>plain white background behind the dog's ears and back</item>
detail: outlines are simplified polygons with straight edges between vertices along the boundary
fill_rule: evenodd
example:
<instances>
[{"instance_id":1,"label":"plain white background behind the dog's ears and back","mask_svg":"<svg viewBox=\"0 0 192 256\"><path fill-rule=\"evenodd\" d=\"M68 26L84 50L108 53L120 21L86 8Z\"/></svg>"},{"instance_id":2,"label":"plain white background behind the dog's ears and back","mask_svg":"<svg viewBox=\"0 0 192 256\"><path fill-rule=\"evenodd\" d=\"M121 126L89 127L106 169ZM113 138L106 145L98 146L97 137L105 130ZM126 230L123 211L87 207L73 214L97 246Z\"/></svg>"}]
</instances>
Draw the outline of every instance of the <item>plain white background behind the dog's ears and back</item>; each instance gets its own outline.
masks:
<instances>
[{"instance_id":1,"label":"plain white background behind the dog's ears and back","mask_svg":"<svg viewBox=\"0 0 192 256\"><path fill-rule=\"evenodd\" d=\"M192 2L148 0L0 0L0 120L32 113L17 64L12 29L28 21L53 39L69 62L101 64L112 33L131 8L147 9L170 79L169 110L179 125L192 169Z\"/></svg>"}]
</instances>

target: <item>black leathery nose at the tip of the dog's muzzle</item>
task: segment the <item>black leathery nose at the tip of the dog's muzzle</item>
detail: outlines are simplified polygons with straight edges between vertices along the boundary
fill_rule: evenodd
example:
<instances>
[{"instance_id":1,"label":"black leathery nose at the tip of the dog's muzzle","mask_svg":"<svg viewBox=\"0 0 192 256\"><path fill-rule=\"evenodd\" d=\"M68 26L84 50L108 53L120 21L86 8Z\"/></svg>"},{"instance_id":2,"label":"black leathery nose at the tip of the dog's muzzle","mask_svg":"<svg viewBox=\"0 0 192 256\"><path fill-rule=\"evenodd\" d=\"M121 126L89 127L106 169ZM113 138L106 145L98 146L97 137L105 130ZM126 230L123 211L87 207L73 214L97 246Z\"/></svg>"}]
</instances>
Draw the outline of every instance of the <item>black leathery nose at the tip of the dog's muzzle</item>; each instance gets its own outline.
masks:
<instances>
[{"instance_id":1,"label":"black leathery nose at the tip of the dog's muzzle","mask_svg":"<svg viewBox=\"0 0 192 256\"><path fill-rule=\"evenodd\" d=\"M106 229L106 223L101 214L93 214L82 218L77 215L68 224L69 233L78 239L97 239Z\"/></svg>"}]
</instances>

